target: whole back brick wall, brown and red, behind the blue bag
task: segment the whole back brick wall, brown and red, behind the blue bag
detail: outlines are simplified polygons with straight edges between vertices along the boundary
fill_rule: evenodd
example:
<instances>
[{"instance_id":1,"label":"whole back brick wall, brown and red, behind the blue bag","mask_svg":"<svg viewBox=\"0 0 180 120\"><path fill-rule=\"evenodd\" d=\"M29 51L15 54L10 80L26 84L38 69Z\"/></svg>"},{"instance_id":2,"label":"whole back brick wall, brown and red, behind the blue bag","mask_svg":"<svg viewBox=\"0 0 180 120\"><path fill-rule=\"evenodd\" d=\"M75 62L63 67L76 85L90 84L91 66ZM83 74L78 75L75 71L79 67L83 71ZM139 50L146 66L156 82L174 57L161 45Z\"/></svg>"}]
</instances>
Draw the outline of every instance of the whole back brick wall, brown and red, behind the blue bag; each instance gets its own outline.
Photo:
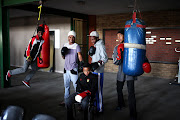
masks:
<instances>
[{"instance_id":1,"label":"whole back brick wall, brown and red, behind the blue bag","mask_svg":"<svg viewBox=\"0 0 180 120\"><path fill-rule=\"evenodd\" d=\"M151 31L151 34L156 33L157 37L153 39L156 40L155 43L147 44L147 56L148 59L152 61L158 61L162 63L151 63L152 72L150 74L144 75L162 78L174 78L178 71L178 65L174 63L177 63L178 57L180 56L180 53L176 53L174 51L175 47L180 46L180 43L175 42L175 40L180 39L180 10L151 11L143 12L141 14L143 20L146 22L147 27L161 28L161 30L149 29ZM117 29L124 28L125 22L131 19L131 16L132 13L96 16L96 30L99 32L100 38L103 39L103 36L105 36L106 33L109 34L111 38L105 36L104 39L114 40L111 41L111 44L106 44L108 57L112 56L111 51L113 51L115 44L117 44L115 41L116 36L114 36L113 34L115 33L115 31L117 32ZM169 29L177 27L178 29ZM168 29L166 30L164 28ZM108 30L114 30L114 32ZM177 32L176 35L174 35L175 32ZM169 33L169 35L167 33ZM146 35L146 37L150 38L151 35ZM165 38L165 40L160 40L161 37ZM173 38L171 40L166 40L166 38L169 37ZM152 43L152 41L150 42ZM166 42L171 42L171 44L166 44ZM162 52L163 54L161 54ZM169 62L169 64L163 64L163 62ZM113 65L112 60L109 60L105 66L106 72L117 72L117 69L117 66Z\"/></svg>"}]
</instances>

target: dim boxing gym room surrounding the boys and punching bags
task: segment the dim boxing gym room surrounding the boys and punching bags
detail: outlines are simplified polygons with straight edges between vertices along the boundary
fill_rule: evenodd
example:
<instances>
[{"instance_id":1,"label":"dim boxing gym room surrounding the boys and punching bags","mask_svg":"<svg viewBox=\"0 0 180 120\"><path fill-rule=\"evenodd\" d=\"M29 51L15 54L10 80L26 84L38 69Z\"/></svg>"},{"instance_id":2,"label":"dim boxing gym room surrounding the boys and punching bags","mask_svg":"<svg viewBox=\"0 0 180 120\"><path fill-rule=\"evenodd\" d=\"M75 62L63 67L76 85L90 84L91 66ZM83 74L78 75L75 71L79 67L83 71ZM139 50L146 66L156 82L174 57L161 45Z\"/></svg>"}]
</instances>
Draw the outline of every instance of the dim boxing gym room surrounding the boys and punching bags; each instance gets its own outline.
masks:
<instances>
[{"instance_id":1,"label":"dim boxing gym room surrounding the boys and punching bags","mask_svg":"<svg viewBox=\"0 0 180 120\"><path fill-rule=\"evenodd\" d=\"M1 0L0 118L10 120L3 118L3 112L16 106L23 111L23 120L32 120L38 114L66 120L66 108L59 106L64 99L65 60L61 48L68 42L68 32L74 30L84 62L91 62L88 50L92 43L87 35L96 30L105 43L108 62L104 68L104 111L95 114L94 120L129 120L126 83L126 107L115 110L118 66L113 64L112 55L119 44L117 32L125 28L134 13L145 22L145 50L151 65L151 72L144 72L135 81L138 120L179 120L179 0ZM49 27L48 67L36 72L30 81L31 88L22 83L31 67L7 81L8 70L23 66L29 39L36 34L37 25L44 23ZM71 82L70 93L73 92Z\"/></svg>"}]
</instances>

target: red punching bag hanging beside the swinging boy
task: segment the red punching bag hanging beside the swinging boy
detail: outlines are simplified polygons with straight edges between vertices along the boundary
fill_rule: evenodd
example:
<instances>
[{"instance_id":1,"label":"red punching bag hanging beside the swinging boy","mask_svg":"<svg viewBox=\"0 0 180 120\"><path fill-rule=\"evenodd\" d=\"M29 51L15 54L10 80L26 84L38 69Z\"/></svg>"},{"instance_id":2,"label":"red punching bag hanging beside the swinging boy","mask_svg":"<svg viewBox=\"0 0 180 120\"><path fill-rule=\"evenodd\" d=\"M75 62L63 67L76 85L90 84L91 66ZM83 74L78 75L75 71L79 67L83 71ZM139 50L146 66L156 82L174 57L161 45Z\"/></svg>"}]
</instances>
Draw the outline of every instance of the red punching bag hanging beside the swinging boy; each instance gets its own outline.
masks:
<instances>
[{"instance_id":1,"label":"red punching bag hanging beside the swinging boy","mask_svg":"<svg viewBox=\"0 0 180 120\"><path fill-rule=\"evenodd\" d=\"M42 50L37 57L37 66L39 68L48 68L50 65L50 37L49 37L49 27L47 25L39 25L41 27L44 27L44 34L43 39L44 43L42 45Z\"/></svg>"}]
</instances>

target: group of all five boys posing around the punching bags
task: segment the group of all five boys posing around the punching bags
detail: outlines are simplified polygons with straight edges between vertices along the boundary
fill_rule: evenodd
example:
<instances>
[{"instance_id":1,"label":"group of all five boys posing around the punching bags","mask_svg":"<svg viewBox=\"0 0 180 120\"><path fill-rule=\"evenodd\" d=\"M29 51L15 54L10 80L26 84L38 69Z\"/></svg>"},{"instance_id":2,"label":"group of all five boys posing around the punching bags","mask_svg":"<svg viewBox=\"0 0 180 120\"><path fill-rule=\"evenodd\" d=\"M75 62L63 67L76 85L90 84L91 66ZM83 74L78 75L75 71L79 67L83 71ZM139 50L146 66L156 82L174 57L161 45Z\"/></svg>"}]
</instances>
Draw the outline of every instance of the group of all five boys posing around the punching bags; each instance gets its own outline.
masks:
<instances>
[{"instance_id":1,"label":"group of all five boys posing around the punching bags","mask_svg":"<svg viewBox=\"0 0 180 120\"><path fill-rule=\"evenodd\" d=\"M37 67L37 57L40 55L43 40L44 28L38 27L37 35L33 37L25 50L24 55L24 66L22 68L17 68L14 70L9 70L6 75L6 79L9 80L12 75L24 73L27 71L29 65L31 65L32 70L30 74L22 81L27 87L30 88L29 81L34 76ZM63 59L65 59L64 65L64 101L60 105L66 105L67 108L67 119L73 120L72 105L77 102L75 97L84 91L87 92L87 96L81 101L82 108L84 110L84 120L87 120L87 107L89 98L96 98L97 110L103 112L103 79L104 79L104 65L108 61L106 54L106 48L103 40L99 39L99 34L96 31L92 31L90 35L91 43L93 46L90 47L88 55L92 58L91 64L84 63L80 46L75 43L76 33L75 31L70 31L68 33L68 43L64 44L61 49L61 54ZM114 48L113 51L113 63L119 65L119 71L117 74L117 93L118 93L118 106L116 110L122 110L125 107L125 102L123 98L123 85L127 81L128 86L128 101L130 109L130 119L137 119L136 112L136 99L134 93L134 80L136 77L125 75L122 71L122 58L123 58L123 42L124 42L124 30L120 30L117 33L117 40L120 44ZM79 60L79 66L77 63ZM83 73L78 77L78 68L83 69ZM70 82L72 81L75 93L70 95Z\"/></svg>"}]
</instances>

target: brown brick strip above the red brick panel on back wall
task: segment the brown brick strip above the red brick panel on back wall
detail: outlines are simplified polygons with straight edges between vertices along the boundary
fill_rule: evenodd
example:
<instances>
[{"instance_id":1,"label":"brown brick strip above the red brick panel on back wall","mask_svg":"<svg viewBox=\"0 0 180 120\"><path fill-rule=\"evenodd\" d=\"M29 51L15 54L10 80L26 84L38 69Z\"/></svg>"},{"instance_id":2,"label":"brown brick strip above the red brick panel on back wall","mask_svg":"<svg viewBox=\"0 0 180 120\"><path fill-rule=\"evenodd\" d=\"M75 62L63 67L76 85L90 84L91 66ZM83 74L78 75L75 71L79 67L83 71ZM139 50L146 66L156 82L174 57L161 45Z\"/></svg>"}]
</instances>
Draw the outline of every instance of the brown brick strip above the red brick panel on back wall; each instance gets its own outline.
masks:
<instances>
[{"instance_id":1,"label":"brown brick strip above the red brick panel on back wall","mask_svg":"<svg viewBox=\"0 0 180 120\"><path fill-rule=\"evenodd\" d=\"M139 16L137 14L137 16ZM142 19L147 27L180 27L180 9L169 11L142 12ZM132 13L97 15L96 30L103 38L103 29L124 28L125 22L132 18Z\"/></svg>"}]
</instances>

